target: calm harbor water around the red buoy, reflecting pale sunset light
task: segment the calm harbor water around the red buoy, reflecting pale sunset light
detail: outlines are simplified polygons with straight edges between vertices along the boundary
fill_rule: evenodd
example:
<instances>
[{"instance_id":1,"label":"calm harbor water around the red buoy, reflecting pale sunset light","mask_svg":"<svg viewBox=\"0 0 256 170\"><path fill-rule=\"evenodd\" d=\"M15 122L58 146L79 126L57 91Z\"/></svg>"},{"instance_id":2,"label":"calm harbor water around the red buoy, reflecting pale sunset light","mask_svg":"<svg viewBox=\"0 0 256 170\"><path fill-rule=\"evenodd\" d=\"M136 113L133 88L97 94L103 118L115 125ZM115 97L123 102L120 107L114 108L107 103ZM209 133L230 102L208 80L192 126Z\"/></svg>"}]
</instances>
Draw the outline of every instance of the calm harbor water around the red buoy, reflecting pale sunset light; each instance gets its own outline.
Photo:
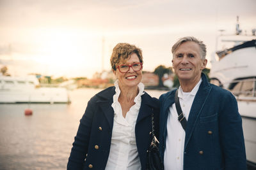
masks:
<instances>
[{"instance_id":1,"label":"calm harbor water around the red buoy, reflecting pale sunset light","mask_svg":"<svg viewBox=\"0 0 256 170\"><path fill-rule=\"evenodd\" d=\"M70 91L71 104L0 104L0 169L66 169L79 120L100 90Z\"/></svg>"}]
</instances>

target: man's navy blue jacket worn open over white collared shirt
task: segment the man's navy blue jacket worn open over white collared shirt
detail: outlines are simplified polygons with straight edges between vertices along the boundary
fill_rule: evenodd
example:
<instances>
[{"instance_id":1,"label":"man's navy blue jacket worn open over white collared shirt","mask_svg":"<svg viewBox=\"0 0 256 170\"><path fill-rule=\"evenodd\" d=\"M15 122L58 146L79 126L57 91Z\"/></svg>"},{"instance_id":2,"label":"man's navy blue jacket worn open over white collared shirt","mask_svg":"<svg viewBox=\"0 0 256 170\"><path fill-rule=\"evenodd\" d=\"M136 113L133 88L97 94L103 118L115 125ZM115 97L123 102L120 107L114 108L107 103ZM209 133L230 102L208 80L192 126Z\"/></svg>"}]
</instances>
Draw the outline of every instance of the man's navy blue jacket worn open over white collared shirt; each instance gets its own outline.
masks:
<instances>
[{"instance_id":1,"label":"man's navy blue jacket worn open over white collared shirt","mask_svg":"<svg viewBox=\"0 0 256 170\"><path fill-rule=\"evenodd\" d=\"M160 96L159 151L164 157L166 122L175 91ZM170 134L172 136L172 134ZM191 106L184 145L184 170L246 169L241 116L236 98L225 89L202 83Z\"/></svg>"}]
</instances>

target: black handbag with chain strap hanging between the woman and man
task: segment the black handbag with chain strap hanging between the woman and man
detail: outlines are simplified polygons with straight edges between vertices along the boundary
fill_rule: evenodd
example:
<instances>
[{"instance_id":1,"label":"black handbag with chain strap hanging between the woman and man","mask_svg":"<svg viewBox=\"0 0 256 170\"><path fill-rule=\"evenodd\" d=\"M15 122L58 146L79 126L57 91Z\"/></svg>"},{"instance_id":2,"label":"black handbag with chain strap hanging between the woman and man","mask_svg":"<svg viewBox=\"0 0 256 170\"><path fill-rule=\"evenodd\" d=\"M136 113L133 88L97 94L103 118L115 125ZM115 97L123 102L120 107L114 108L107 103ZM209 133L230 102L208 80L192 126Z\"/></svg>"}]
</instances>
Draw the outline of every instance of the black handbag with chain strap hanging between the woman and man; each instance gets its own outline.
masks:
<instances>
[{"instance_id":1,"label":"black handbag with chain strap hanging between the woman and man","mask_svg":"<svg viewBox=\"0 0 256 170\"><path fill-rule=\"evenodd\" d=\"M147 151L147 170L164 170L164 164L159 154L159 141L154 132L154 116L152 113L152 142Z\"/></svg>"}]
</instances>

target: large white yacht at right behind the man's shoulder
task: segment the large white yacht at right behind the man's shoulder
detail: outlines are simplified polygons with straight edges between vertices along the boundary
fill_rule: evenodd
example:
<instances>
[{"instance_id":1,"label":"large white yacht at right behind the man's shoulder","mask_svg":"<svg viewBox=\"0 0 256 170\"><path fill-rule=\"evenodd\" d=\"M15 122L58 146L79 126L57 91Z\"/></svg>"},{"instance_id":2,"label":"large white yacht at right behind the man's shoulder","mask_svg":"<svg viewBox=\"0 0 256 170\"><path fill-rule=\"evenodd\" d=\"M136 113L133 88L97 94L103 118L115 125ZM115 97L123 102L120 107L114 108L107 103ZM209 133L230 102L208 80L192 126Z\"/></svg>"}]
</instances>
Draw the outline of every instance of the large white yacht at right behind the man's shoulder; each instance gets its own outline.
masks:
<instances>
[{"instance_id":1,"label":"large white yacht at right behind the man's shoulder","mask_svg":"<svg viewBox=\"0 0 256 170\"><path fill-rule=\"evenodd\" d=\"M230 90L236 96L243 119L248 169L256 168L256 36L221 36L220 43L234 46L216 52L211 59L211 83Z\"/></svg>"}]
</instances>

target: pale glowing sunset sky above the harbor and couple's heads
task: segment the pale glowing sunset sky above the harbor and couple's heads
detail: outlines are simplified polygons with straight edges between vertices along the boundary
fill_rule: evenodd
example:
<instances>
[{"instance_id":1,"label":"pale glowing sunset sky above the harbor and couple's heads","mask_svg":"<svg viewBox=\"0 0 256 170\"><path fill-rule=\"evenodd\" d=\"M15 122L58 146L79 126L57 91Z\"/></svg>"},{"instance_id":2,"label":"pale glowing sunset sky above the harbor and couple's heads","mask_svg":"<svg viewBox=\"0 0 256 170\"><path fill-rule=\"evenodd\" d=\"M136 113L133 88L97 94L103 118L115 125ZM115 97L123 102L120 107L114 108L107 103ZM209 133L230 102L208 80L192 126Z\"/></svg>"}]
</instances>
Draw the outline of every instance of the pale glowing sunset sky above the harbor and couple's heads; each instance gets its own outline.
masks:
<instances>
[{"instance_id":1,"label":"pale glowing sunset sky above the harbor and couple's heads","mask_svg":"<svg viewBox=\"0 0 256 170\"><path fill-rule=\"evenodd\" d=\"M0 0L0 67L20 76L92 77L110 70L116 43L143 50L144 71L172 66L171 47L182 36L216 50L220 29L256 28L255 0ZM208 62L207 67L211 67Z\"/></svg>"}]
</instances>

